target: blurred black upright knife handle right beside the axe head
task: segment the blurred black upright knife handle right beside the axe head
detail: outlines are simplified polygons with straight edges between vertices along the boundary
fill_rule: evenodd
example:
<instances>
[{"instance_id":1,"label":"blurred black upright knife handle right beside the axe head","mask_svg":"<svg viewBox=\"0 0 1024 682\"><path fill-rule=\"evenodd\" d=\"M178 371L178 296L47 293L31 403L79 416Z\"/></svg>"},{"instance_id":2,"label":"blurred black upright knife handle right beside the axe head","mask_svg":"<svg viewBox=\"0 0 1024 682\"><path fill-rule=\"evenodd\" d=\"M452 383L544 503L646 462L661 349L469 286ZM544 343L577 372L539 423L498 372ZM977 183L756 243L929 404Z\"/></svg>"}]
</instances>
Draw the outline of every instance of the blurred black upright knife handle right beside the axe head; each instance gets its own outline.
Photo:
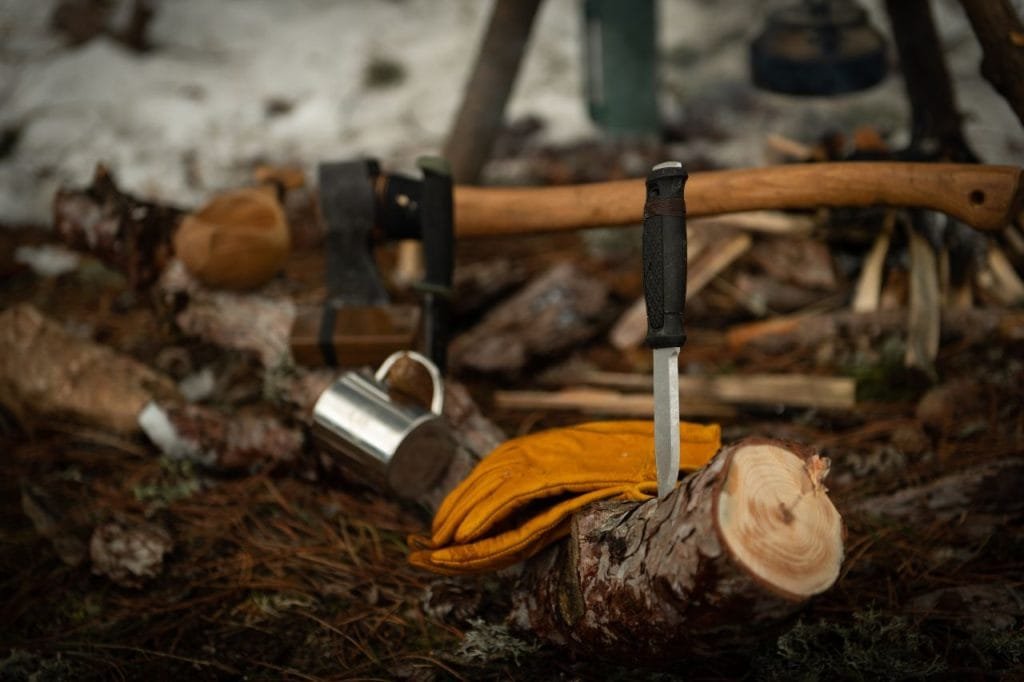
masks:
<instances>
[{"instance_id":1,"label":"blurred black upright knife handle right beside the axe head","mask_svg":"<svg viewBox=\"0 0 1024 682\"><path fill-rule=\"evenodd\" d=\"M452 324L452 274L455 269L455 207L452 200L452 169L438 157L417 161L423 171L420 196L420 229L423 240L425 276L424 354L444 373Z\"/></svg>"}]
</instances>

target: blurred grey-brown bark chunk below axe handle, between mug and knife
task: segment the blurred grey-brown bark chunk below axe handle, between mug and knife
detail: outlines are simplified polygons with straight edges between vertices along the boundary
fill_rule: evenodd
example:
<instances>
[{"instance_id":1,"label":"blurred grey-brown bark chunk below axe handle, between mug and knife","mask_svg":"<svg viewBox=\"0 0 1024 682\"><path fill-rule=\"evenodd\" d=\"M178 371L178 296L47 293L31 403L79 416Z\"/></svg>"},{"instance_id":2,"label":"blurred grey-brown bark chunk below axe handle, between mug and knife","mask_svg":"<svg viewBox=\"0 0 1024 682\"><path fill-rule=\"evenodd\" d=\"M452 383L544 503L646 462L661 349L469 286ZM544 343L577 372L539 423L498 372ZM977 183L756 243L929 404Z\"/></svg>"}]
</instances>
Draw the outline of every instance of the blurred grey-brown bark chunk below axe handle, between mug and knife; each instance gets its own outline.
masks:
<instances>
[{"instance_id":1,"label":"blurred grey-brown bark chunk below axe handle, between mug and knife","mask_svg":"<svg viewBox=\"0 0 1024 682\"><path fill-rule=\"evenodd\" d=\"M452 366L515 373L592 338L604 322L608 288L562 262L492 310L452 343Z\"/></svg>"}]
</instances>

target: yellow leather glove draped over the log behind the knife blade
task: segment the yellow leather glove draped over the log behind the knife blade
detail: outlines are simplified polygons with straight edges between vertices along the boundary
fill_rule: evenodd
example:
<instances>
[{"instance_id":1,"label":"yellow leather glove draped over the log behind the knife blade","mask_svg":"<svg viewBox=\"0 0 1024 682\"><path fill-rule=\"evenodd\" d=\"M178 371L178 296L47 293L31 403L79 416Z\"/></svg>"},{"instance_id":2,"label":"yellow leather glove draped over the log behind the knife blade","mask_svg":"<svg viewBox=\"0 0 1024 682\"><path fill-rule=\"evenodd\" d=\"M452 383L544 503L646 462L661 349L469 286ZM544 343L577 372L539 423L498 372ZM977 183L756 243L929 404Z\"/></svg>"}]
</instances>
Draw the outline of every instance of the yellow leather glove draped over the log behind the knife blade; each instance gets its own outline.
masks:
<instances>
[{"instance_id":1,"label":"yellow leather glove draped over the log behind the knife blade","mask_svg":"<svg viewBox=\"0 0 1024 682\"><path fill-rule=\"evenodd\" d=\"M679 440L679 469L692 471L718 452L721 428L684 422ZM565 536L573 512L592 502L656 493L653 422L593 422L513 438L449 494L430 538L409 539L409 560L439 573L497 570Z\"/></svg>"}]
</instances>

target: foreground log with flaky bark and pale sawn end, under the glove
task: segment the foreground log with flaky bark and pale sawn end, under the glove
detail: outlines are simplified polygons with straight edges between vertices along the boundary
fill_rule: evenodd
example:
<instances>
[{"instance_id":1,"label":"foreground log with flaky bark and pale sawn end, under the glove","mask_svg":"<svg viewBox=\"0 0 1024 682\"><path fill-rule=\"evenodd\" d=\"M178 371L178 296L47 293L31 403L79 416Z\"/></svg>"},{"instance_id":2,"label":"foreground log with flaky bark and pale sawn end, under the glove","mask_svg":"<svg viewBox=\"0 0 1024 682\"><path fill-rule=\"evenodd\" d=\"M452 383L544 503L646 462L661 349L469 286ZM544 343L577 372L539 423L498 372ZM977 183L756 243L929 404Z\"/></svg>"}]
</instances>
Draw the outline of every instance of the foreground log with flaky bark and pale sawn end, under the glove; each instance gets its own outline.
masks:
<instances>
[{"instance_id":1,"label":"foreground log with flaky bark and pale sawn end, under the glove","mask_svg":"<svg viewBox=\"0 0 1024 682\"><path fill-rule=\"evenodd\" d=\"M513 622L647 663L749 644L839 577L844 529L827 471L802 445L748 439L664 500L595 505L527 563Z\"/></svg>"}]
</instances>

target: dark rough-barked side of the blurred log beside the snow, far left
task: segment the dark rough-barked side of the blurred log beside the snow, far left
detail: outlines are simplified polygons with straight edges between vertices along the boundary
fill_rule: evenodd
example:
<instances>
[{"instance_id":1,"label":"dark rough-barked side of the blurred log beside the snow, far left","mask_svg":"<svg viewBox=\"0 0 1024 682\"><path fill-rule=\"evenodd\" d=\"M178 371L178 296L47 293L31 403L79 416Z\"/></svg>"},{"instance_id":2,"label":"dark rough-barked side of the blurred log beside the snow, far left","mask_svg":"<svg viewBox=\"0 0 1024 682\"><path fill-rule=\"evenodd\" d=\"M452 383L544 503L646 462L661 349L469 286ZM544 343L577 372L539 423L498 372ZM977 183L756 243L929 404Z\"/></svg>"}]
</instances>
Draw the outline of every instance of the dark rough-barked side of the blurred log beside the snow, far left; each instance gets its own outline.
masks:
<instances>
[{"instance_id":1,"label":"dark rough-barked side of the blurred log beside the snow, far left","mask_svg":"<svg viewBox=\"0 0 1024 682\"><path fill-rule=\"evenodd\" d=\"M135 289L148 287L160 275L181 217L179 209L121 191L102 165L96 166L88 187L60 188L53 199L53 225L60 239L123 272Z\"/></svg>"}]
</instances>

